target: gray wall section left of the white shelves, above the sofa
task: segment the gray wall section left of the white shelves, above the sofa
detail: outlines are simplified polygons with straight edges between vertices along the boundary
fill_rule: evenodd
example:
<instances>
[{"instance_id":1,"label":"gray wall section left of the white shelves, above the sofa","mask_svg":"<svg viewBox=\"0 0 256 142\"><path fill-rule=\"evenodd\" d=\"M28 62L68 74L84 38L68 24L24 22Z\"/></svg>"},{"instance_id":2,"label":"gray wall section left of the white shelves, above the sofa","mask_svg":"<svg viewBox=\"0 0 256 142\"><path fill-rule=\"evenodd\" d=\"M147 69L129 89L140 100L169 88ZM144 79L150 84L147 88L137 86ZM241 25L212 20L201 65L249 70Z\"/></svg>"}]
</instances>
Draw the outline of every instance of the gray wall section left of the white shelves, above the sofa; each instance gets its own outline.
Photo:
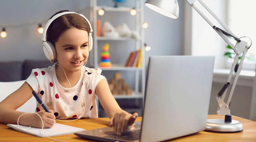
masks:
<instances>
[{"instance_id":1,"label":"gray wall section left of the white shelves, above the sofa","mask_svg":"<svg viewBox=\"0 0 256 142\"><path fill-rule=\"evenodd\" d=\"M6 27L7 37L0 38L0 61L25 59L46 60L42 49L42 35L37 32L38 23L44 24L52 14L60 10L82 10L89 1L83 0L3 0L0 1L0 27ZM89 15L89 13L88 13Z\"/></svg>"}]
</instances>

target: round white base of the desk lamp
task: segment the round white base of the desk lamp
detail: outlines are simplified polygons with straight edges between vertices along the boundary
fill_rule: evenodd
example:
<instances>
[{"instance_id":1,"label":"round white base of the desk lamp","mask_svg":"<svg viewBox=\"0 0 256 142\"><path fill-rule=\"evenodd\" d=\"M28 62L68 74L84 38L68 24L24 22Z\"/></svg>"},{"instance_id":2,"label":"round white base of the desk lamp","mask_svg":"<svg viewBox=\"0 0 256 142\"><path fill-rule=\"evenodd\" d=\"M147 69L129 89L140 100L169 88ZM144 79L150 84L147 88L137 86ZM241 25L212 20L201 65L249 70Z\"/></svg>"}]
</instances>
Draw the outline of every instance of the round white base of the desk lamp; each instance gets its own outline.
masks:
<instances>
[{"instance_id":1,"label":"round white base of the desk lamp","mask_svg":"<svg viewBox=\"0 0 256 142\"><path fill-rule=\"evenodd\" d=\"M211 132L240 132L243 124L237 120L225 123L224 119L207 119L205 131Z\"/></svg>"}]
</instances>

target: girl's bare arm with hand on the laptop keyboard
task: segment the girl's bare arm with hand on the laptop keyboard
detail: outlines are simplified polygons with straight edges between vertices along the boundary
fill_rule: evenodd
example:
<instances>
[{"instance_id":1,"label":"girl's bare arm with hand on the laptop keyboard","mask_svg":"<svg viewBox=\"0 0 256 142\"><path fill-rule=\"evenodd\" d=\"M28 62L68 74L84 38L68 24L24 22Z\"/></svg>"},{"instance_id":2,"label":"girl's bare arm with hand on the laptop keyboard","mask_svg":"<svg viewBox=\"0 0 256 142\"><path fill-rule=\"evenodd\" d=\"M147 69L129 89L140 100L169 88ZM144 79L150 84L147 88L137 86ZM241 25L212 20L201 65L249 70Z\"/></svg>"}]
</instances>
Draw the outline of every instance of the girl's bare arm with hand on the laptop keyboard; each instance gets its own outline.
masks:
<instances>
[{"instance_id":1,"label":"girl's bare arm with hand on the laptop keyboard","mask_svg":"<svg viewBox=\"0 0 256 142\"><path fill-rule=\"evenodd\" d=\"M108 82L106 79L102 79L95 90L100 104L108 114L110 121L109 126L114 126L114 131L117 135L121 135L125 131L127 126L130 126L134 123L135 119L138 116L138 113L130 114L126 111L123 111L117 104L115 98L111 94L111 91L108 87Z\"/></svg>"}]
</instances>

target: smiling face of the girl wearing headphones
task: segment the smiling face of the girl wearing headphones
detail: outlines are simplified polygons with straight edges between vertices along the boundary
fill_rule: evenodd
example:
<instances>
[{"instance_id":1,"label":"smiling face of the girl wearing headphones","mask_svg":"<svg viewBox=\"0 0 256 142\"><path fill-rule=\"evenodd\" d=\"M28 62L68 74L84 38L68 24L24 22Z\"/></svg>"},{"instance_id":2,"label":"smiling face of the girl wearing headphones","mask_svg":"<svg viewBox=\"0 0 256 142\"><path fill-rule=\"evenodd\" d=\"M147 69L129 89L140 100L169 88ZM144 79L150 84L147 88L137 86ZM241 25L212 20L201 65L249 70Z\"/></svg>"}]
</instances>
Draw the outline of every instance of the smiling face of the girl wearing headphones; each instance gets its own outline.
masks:
<instances>
[{"instance_id":1,"label":"smiling face of the girl wearing headphones","mask_svg":"<svg viewBox=\"0 0 256 142\"><path fill-rule=\"evenodd\" d=\"M89 56L88 32L71 28L55 43L57 61L66 71L81 71Z\"/></svg>"}]
</instances>

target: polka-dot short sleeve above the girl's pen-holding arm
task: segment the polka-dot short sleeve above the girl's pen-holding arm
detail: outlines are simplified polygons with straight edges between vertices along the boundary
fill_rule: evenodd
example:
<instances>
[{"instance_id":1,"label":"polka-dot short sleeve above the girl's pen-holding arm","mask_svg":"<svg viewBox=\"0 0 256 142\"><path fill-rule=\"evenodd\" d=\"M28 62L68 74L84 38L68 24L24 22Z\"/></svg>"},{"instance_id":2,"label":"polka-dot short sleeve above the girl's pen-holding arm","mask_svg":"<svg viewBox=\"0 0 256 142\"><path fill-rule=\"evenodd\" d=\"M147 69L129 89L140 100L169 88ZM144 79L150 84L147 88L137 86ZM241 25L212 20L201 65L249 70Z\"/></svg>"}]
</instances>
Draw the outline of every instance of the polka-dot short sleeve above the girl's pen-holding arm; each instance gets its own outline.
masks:
<instances>
[{"instance_id":1,"label":"polka-dot short sleeve above the girl's pen-holding arm","mask_svg":"<svg viewBox=\"0 0 256 142\"><path fill-rule=\"evenodd\" d=\"M33 69L30 73L30 76L26 79L26 82L33 88L33 90L36 91L36 93L39 91L39 83L36 78L36 76L38 76L38 70L39 69Z\"/></svg>"}]
</instances>

